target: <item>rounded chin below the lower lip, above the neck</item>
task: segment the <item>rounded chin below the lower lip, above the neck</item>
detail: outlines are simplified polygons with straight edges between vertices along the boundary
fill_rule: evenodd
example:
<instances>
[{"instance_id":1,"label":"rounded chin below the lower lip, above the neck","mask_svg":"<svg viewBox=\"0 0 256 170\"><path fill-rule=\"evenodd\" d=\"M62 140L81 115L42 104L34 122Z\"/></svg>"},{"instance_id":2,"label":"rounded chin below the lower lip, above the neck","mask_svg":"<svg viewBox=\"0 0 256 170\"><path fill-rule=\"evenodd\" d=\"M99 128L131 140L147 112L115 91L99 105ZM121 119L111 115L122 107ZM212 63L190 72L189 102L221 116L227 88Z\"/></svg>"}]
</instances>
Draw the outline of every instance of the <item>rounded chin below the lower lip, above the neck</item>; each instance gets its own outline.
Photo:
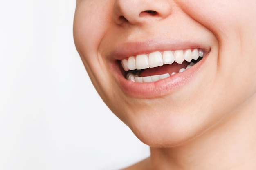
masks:
<instances>
[{"instance_id":1,"label":"rounded chin below the lower lip, above the neck","mask_svg":"<svg viewBox=\"0 0 256 170\"><path fill-rule=\"evenodd\" d=\"M196 119L195 113L139 113L126 123L136 137L151 147L176 147L202 135L214 124L206 117ZM198 116L198 115L197 115ZM217 119L217 118L216 118ZM209 119L208 119L209 120Z\"/></svg>"}]
</instances>

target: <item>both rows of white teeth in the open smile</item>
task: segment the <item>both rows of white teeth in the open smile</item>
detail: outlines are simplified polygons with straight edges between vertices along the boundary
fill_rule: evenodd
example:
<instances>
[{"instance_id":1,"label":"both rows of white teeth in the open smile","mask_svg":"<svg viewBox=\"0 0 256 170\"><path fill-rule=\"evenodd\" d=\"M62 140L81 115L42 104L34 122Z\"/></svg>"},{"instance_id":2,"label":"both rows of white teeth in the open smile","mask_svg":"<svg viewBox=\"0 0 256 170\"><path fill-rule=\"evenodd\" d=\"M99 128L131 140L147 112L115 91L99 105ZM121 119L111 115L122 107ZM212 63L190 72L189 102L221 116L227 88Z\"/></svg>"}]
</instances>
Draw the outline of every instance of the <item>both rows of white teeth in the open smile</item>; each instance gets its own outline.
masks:
<instances>
[{"instance_id":1,"label":"both rows of white teeth in the open smile","mask_svg":"<svg viewBox=\"0 0 256 170\"><path fill-rule=\"evenodd\" d=\"M182 64L184 60L187 62L191 62L191 60L197 60L199 57L203 57L204 51L202 49L186 49L186 50L176 50L176 51L163 51L162 53L159 51L147 54L141 54L137 56L129 57L128 59L123 59L121 64L125 71L129 70L142 70L147 68L154 68L158 66L162 66L164 64L172 64L176 62L178 64ZM178 73L182 73L183 71L191 68L195 63L191 62L186 68L181 68ZM161 79L165 79L170 77L169 73L162 75L152 75L146 77L140 77L140 72L137 73L128 73L126 75L126 79L129 79L133 82L156 82ZM171 73L171 75L177 74L176 72Z\"/></svg>"}]
</instances>

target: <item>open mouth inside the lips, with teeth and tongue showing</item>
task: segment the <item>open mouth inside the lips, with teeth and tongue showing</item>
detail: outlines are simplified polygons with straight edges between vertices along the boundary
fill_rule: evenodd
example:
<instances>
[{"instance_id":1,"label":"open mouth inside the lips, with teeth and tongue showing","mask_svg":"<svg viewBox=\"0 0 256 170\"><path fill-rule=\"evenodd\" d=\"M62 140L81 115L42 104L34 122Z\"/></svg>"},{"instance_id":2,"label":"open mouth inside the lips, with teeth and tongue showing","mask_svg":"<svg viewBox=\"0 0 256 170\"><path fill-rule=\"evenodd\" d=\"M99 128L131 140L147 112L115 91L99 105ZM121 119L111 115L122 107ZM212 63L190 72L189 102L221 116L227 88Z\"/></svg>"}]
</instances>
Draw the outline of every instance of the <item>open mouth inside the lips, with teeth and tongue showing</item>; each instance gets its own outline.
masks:
<instances>
[{"instance_id":1,"label":"open mouth inside the lips, with teeth and tongue showing","mask_svg":"<svg viewBox=\"0 0 256 170\"><path fill-rule=\"evenodd\" d=\"M205 54L206 51L200 48L155 51L122 59L121 65L127 80L138 83L157 82L190 69Z\"/></svg>"}]
</instances>

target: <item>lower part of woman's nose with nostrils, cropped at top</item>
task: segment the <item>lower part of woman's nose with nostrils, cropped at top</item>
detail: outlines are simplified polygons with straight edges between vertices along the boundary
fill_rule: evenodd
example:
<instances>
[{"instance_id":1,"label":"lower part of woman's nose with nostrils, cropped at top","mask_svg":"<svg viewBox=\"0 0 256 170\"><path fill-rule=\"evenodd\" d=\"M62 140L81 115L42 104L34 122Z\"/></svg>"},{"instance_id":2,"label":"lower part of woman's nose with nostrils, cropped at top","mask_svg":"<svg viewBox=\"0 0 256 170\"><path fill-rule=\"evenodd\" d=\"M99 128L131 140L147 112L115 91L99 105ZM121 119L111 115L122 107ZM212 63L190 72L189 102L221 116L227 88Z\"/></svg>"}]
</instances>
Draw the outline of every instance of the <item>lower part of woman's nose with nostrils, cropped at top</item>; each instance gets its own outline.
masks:
<instances>
[{"instance_id":1,"label":"lower part of woman's nose with nostrils, cropped at top","mask_svg":"<svg viewBox=\"0 0 256 170\"><path fill-rule=\"evenodd\" d=\"M161 20L172 12L170 0L115 0L113 19L117 24L144 24Z\"/></svg>"}]
</instances>

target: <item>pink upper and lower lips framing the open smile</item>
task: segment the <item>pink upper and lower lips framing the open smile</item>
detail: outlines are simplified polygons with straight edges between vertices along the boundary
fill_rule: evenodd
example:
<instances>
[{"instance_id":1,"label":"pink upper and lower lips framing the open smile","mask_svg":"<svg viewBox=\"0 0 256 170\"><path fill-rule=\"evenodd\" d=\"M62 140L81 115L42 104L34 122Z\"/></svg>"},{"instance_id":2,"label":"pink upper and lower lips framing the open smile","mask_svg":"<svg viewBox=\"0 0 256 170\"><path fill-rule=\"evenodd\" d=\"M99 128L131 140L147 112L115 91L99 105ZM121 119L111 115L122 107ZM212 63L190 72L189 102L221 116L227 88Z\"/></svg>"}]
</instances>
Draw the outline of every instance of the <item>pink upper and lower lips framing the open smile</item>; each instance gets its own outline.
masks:
<instances>
[{"instance_id":1,"label":"pink upper and lower lips framing the open smile","mask_svg":"<svg viewBox=\"0 0 256 170\"><path fill-rule=\"evenodd\" d=\"M118 61L133 55L147 54L153 51L189 48L203 49L205 55L202 60L188 70L157 82L138 83L127 80L123 75L123 68L121 68L119 62L113 63L115 65L112 67L114 69L114 77L119 83L121 90L128 97L149 99L174 93L178 89L182 88L182 86L188 84L189 81L195 77L207 59L207 55L209 55L211 48L210 46L202 44L201 42L184 42L182 40L148 40L145 42L126 42L118 46L115 51L113 51L113 53L110 55L112 60L114 59L115 61Z\"/></svg>"}]
</instances>

